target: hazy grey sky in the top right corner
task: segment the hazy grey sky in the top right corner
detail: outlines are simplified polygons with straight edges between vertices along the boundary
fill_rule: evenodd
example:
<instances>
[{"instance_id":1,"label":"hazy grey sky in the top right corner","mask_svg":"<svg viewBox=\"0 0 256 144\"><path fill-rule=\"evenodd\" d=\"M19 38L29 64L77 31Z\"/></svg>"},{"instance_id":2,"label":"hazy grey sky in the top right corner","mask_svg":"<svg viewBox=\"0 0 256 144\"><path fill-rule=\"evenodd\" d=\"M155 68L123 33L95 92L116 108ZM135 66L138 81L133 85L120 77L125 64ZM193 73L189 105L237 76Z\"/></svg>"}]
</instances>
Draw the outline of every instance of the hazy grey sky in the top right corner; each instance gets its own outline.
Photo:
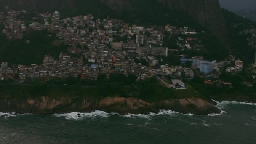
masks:
<instances>
[{"instance_id":1,"label":"hazy grey sky in the top right corner","mask_svg":"<svg viewBox=\"0 0 256 144\"><path fill-rule=\"evenodd\" d=\"M232 11L256 10L256 0L219 0L221 7Z\"/></svg>"}]
</instances>

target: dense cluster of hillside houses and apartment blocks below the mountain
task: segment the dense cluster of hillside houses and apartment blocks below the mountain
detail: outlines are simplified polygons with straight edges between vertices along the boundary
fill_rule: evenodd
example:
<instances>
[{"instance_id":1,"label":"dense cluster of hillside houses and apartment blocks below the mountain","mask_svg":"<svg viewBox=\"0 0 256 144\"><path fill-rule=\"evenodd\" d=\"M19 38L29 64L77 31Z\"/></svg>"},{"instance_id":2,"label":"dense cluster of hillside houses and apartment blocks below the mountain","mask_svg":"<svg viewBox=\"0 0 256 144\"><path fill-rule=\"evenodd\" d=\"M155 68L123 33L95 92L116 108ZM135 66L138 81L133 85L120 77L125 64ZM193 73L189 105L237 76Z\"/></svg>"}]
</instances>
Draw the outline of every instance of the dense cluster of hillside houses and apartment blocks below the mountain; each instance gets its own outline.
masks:
<instances>
[{"instance_id":1,"label":"dense cluster of hillside houses and apartment blocks below the mountain","mask_svg":"<svg viewBox=\"0 0 256 144\"><path fill-rule=\"evenodd\" d=\"M166 33L185 35L186 38L178 37L177 40L181 49L191 49L194 41L200 43L194 36L199 32L188 27L144 27L117 19L97 19L91 14L61 19L59 11L42 13L31 21L25 21L21 17L26 14L26 11L9 9L7 14L0 13L0 22L5 24L2 33L9 39L21 39L24 32L47 29L56 34L55 44L68 45L68 53L60 53L59 59L45 56L40 65L9 65L2 62L1 80L52 77L96 80L100 74L109 76L113 73L134 74L142 80L155 75L193 78L197 73L211 74L223 67L230 73L243 70L241 61L236 61L235 67L230 67L231 61L207 61L198 56L192 59L181 56L181 64L190 61L190 68L168 64L159 66L159 56L167 57L168 53L179 52L177 49L163 47ZM72 54L77 54L78 57L72 57ZM136 63L135 59L144 59L149 66Z\"/></svg>"}]
</instances>

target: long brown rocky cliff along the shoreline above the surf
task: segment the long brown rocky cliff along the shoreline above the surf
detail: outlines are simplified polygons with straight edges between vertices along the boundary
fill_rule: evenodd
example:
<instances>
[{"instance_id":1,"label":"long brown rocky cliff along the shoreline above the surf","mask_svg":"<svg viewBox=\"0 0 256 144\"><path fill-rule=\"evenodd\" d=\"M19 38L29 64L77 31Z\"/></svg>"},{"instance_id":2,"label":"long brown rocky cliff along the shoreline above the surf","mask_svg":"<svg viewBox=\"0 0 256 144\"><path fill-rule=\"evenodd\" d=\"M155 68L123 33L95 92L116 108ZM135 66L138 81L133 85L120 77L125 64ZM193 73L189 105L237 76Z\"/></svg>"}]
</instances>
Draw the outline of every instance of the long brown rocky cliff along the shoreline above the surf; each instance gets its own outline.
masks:
<instances>
[{"instance_id":1,"label":"long brown rocky cliff along the shoreline above the surf","mask_svg":"<svg viewBox=\"0 0 256 144\"><path fill-rule=\"evenodd\" d=\"M200 98L174 99L159 103L147 103L136 98L108 97L105 99L41 96L38 98L2 98L0 112L53 114L66 112L91 112L101 110L120 114L158 113L174 110L181 113L208 115L220 113L213 104Z\"/></svg>"}]
</instances>

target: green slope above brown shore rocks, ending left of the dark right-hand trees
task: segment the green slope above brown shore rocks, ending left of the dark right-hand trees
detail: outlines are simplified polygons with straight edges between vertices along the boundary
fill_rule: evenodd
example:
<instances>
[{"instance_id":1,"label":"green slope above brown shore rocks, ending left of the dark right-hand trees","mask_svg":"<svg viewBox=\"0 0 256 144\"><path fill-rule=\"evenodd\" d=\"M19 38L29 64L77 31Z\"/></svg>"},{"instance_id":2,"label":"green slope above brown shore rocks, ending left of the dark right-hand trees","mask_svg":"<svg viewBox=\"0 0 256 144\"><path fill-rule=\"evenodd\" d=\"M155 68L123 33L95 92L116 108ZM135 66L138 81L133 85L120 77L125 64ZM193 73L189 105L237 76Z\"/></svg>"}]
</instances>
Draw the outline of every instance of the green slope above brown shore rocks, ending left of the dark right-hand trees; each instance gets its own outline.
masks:
<instances>
[{"instance_id":1,"label":"green slope above brown shore rocks, ending left of the dark right-hand trees","mask_svg":"<svg viewBox=\"0 0 256 144\"><path fill-rule=\"evenodd\" d=\"M187 90L176 91L166 88L152 77L136 81L135 75L125 77L121 74L99 75L98 80L80 80L79 78L28 80L26 84L11 84L11 81L0 81L0 96L87 96L104 98L107 96L136 97L145 101L162 101L166 99L198 96L190 86Z\"/></svg>"}]
</instances>

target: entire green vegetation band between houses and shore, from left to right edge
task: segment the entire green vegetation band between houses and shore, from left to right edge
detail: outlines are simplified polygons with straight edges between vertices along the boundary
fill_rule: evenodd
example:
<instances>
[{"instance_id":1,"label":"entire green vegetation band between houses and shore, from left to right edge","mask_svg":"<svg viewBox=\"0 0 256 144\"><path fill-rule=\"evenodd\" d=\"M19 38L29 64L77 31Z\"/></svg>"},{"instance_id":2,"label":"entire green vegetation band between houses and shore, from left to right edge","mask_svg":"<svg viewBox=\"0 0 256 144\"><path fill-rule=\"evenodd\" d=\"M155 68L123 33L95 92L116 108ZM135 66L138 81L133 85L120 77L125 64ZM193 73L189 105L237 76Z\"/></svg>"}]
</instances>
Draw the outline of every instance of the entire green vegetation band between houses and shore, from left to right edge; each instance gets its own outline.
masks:
<instances>
[{"instance_id":1,"label":"entire green vegetation band between houses and shore, from left to right edge","mask_svg":"<svg viewBox=\"0 0 256 144\"><path fill-rule=\"evenodd\" d=\"M201 97L204 99L239 99L240 101L256 101L256 84L247 87L241 84L246 79L240 75L221 75L233 87L207 85L200 77L183 79L186 90L175 90L161 85L157 78L136 81L135 75L112 74L99 75L97 80L81 80L80 78L51 79L45 81L27 80L25 84L14 84L11 81L0 81L0 96L38 97L38 96L71 96L104 98L111 96L136 97L144 101L157 102L166 99L182 99Z\"/></svg>"}]
</instances>

